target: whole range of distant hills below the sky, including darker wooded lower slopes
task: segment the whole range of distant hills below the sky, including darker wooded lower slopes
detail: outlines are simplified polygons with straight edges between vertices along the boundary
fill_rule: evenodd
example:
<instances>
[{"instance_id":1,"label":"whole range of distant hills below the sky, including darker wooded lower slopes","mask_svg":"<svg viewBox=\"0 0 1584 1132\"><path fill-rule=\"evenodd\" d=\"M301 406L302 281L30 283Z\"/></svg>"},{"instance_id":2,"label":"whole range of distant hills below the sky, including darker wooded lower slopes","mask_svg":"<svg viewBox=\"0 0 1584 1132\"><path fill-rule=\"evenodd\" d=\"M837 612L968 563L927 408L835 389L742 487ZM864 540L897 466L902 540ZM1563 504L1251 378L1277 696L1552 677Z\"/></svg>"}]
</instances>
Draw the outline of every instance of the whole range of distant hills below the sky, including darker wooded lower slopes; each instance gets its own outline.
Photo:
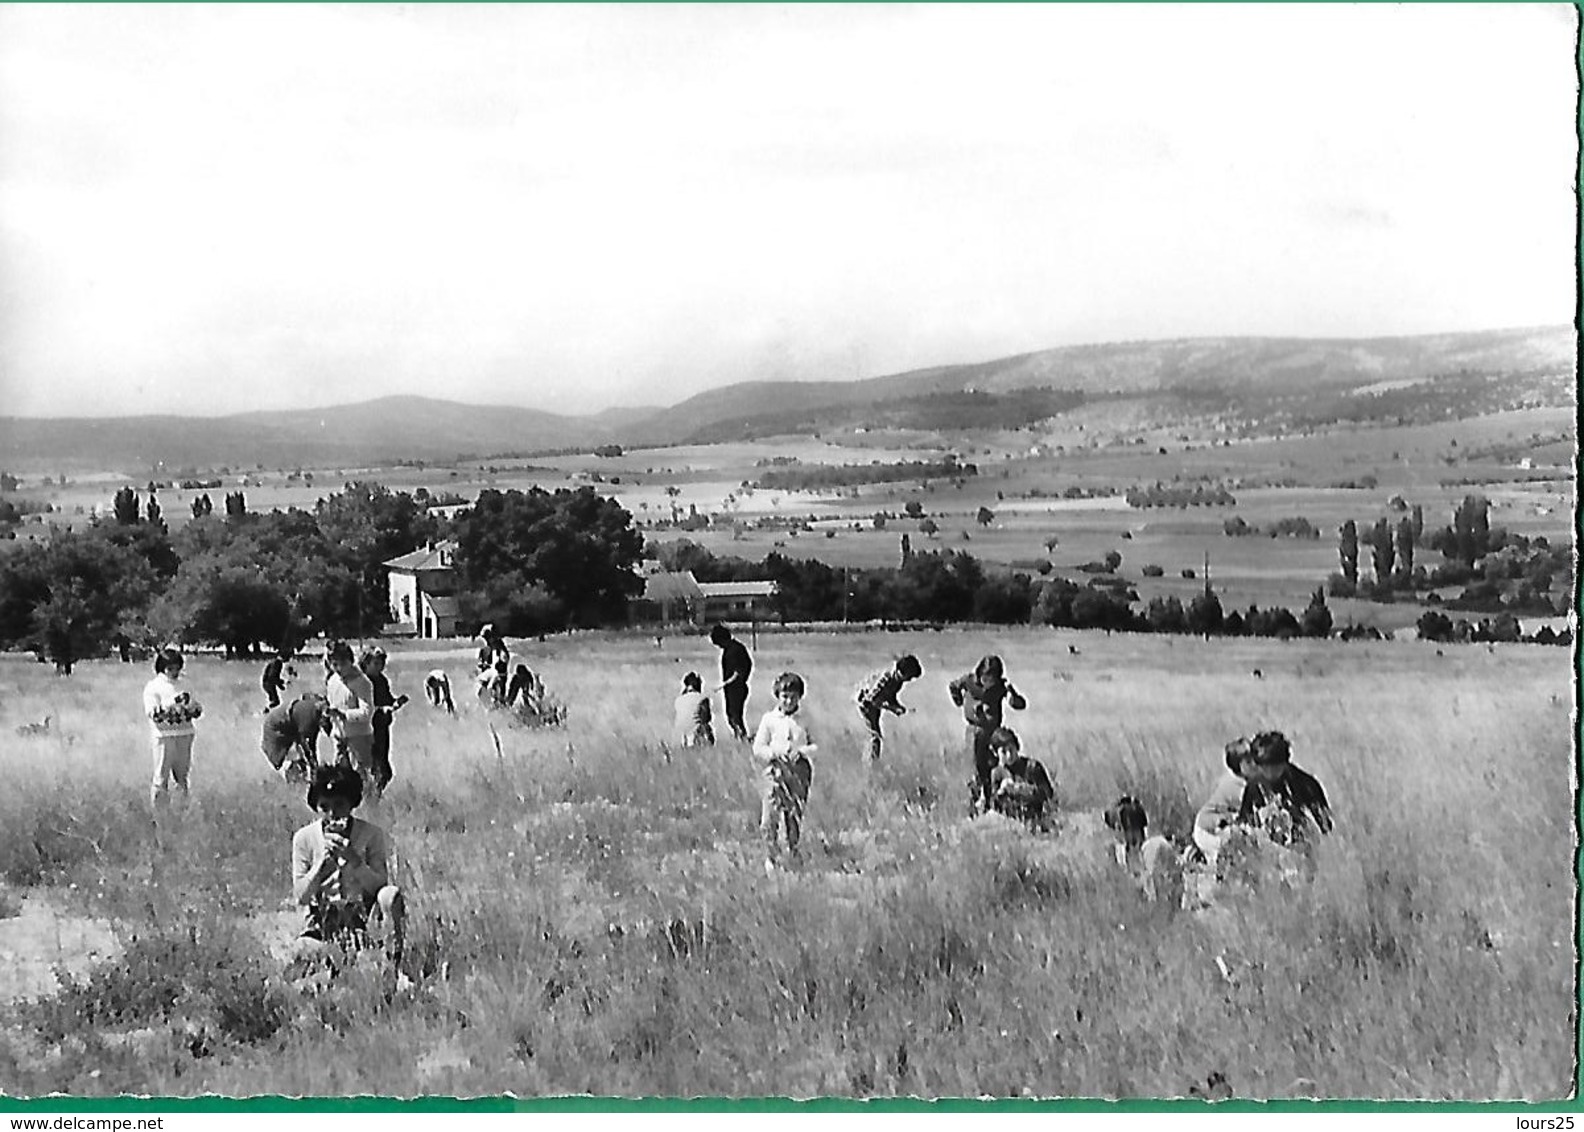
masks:
<instances>
[{"instance_id":1,"label":"whole range of distant hills below the sky, including darker wooded lower slopes","mask_svg":"<svg viewBox=\"0 0 1584 1132\"><path fill-rule=\"evenodd\" d=\"M1571 326L1391 339L1178 339L1061 347L860 382L740 382L668 408L564 416L394 396L220 418L0 416L0 469L356 467L789 431L1012 427L1091 399L1169 397L1296 424L1432 418L1574 396ZM1568 401L1567 404L1571 404Z\"/></svg>"}]
</instances>

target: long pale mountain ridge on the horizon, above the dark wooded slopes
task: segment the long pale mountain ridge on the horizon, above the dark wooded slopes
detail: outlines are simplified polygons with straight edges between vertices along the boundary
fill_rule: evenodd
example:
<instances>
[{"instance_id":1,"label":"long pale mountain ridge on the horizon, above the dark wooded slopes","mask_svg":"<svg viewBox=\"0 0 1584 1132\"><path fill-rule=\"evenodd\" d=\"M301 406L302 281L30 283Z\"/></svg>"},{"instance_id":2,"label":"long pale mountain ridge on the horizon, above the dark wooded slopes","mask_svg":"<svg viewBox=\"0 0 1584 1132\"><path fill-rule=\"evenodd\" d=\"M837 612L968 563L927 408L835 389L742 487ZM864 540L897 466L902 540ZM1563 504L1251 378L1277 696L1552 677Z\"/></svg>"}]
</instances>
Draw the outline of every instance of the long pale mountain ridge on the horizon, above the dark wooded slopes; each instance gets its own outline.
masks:
<instances>
[{"instance_id":1,"label":"long pale mountain ridge on the horizon, above the dark wooded slopes","mask_svg":"<svg viewBox=\"0 0 1584 1132\"><path fill-rule=\"evenodd\" d=\"M337 467L396 459L448 461L600 443L675 445L765 435L776 421L847 424L881 405L931 397L1004 397L1030 389L1087 396L1346 393L1467 372L1576 374L1571 326L1421 336L1304 339L1220 336L1080 344L979 363L927 366L830 382L735 382L668 407L565 415L521 405L470 405L388 394L322 408L249 410L192 418L0 416L0 465L54 459L101 467ZM895 415L895 413L893 413Z\"/></svg>"}]
</instances>

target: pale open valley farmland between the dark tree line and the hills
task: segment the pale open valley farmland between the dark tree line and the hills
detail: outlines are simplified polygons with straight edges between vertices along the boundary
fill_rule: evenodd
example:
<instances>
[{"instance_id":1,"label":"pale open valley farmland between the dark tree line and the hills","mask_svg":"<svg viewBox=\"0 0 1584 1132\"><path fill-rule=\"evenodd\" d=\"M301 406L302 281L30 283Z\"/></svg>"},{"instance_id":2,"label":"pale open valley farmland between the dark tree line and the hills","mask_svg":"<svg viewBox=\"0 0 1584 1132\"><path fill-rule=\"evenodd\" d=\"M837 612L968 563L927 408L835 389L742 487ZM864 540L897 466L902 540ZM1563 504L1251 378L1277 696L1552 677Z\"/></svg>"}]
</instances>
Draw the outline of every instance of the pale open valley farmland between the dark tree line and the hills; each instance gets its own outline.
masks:
<instances>
[{"instance_id":1,"label":"pale open valley farmland between the dark tree line and the hills","mask_svg":"<svg viewBox=\"0 0 1584 1132\"><path fill-rule=\"evenodd\" d=\"M990 567L1026 572L1049 560L1055 573L1066 576L1080 576L1079 565L1118 551L1120 575L1134 586L1142 608L1153 597L1190 598L1204 584L1209 556L1224 608L1300 610L1338 568L1337 527L1346 519L1364 527L1381 516L1396 522L1400 511L1391 505L1394 497L1403 507L1422 507L1429 530L1448 524L1464 496L1478 492L1491 499L1492 526L1525 537L1571 538L1573 412L1527 408L1440 424L1334 427L1261 439L1148 429L1137 421L1104 426L1091 421L1095 427L1077 432L1082 421L1063 415L1049 427L957 437L908 434L890 437L889 446L882 446L885 432L846 432L630 450L618 458L320 469L312 486L288 480L290 470L255 469L247 473L253 483L242 491L252 510L272 510L310 508L355 478L375 480L394 491L455 492L469 500L483 488L556 489L592 483L626 507L653 541L689 538L716 554L751 560L775 551L836 567L895 565L904 532L916 549L961 549ZM854 446L855 442L870 446ZM835 491L741 489L744 481L763 475L763 464L773 458L825 465L930 461L949 451L976 461L979 475L955 483L900 481ZM1521 467L1521 461L1530 467ZM238 489L241 470L233 472L225 488L209 489L217 507L227 491ZM1237 503L1147 510L1126 505L1123 494L1129 488L1158 481L1221 483ZM84 478L65 488L24 488L21 494L48 499L62 511L49 518L71 524L84 522L93 508L108 510L120 483ZM1069 489L1107 494L1063 497ZM200 492L162 492L169 526L187 521L195 494ZM938 534L919 532L919 521L904 516L914 502L936 522ZM995 515L988 526L977 522L982 507ZM670 524L673 513L686 516L689 508L711 518L711 526L681 530ZM889 516L881 530L874 529L876 513ZM1223 524L1232 518L1256 527L1304 518L1319 530L1319 538L1231 538ZM803 522L813 529L795 529ZM36 537L43 527L30 524L21 532ZM1052 535L1060 543L1047 551L1045 540ZM1434 564L1440 556L1426 553L1424 560ZM1163 576L1145 578L1145 565L1161 567ZM1199 576L1183 578L1183 570ZM1426 608L1416 602L1342 603L1338 625L1356 621L1396 630L1415 624Z\"/></svg>"}]
</instances>

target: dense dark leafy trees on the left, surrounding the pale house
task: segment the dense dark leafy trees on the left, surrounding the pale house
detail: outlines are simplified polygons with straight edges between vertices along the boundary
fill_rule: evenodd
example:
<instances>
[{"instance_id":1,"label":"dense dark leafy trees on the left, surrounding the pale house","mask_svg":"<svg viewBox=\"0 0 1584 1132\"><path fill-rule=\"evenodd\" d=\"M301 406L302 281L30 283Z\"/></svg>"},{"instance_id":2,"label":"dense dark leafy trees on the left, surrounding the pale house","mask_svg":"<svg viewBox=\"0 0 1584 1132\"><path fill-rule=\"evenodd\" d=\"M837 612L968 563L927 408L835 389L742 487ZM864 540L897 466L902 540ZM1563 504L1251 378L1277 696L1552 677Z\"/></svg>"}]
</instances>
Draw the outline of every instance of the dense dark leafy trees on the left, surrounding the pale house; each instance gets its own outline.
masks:
<instances>
[{"instance_id":1,"label":"dense dark leafy trees on the left, surrounding the pale house","mask_svg":"<svg viewBox=\"0 0 1584 1132\"><path fill-rule=\"evenodd\" d=\"M591 488L485 491L450 524L407 492L348 483L312 510L225 513L198 497L174 535L158 492L117 492L79 530L0 549L0 648L57 663L117 641L212 644L227 655L372 636L386 624L383 564L428 541L458 543L458 605L507 632L605 624L638 583L642 538Z\"/></svg>"}]
</instances>

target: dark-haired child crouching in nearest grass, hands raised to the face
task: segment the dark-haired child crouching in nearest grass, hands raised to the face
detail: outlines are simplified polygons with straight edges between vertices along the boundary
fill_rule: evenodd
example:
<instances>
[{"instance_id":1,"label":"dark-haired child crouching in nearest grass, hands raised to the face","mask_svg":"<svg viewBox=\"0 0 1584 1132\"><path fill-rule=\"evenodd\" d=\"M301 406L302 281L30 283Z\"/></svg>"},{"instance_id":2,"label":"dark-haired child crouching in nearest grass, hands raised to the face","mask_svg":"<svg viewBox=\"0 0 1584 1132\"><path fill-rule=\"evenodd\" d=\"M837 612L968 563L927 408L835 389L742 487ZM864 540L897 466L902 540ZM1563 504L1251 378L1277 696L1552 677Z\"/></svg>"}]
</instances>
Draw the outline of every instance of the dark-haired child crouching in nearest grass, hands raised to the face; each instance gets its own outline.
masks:
<instances>
[{"instance_id":1,"label":"dark-haired child crouching in nearest grass, hands raised to the face","mask_svg":"<svg viewBox=\"0 0 1584 1132\"><path fill-rule=\"evenodd\" d=\"M341 763L314 769L307 804L318 817L291 836L291 896L303 907L303 936L288 977L364 947L371 920L383 928L393 967L401 961L407 904L390 883L385 830L352 817L361 801L358 771Z\"/></svg>"}]
</instances>

